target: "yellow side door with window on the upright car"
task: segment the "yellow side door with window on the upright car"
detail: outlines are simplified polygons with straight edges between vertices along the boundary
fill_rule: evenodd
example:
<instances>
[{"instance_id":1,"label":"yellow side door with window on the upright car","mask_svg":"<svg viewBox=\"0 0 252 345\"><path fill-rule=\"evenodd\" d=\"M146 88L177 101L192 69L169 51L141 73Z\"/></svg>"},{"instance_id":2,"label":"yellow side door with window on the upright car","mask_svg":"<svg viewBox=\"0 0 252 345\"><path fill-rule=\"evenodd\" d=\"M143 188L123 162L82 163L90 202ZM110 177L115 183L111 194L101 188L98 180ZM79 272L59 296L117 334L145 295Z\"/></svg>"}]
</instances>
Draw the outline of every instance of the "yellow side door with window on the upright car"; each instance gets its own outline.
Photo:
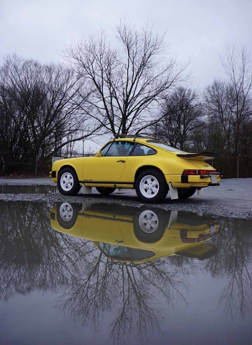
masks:
<instances>
[{"instance_id":1,"label":"yellow side door with window on the upright car","mask_svg":"<svg viewBox=\"0 0 252 345\"><path fill-rule=\"evenodd\" d=\"M101 157L87 158L83 164L84 181L119 181L133 146L134 142L113 141L102 150Z\"/></svg>"}]
</instances>

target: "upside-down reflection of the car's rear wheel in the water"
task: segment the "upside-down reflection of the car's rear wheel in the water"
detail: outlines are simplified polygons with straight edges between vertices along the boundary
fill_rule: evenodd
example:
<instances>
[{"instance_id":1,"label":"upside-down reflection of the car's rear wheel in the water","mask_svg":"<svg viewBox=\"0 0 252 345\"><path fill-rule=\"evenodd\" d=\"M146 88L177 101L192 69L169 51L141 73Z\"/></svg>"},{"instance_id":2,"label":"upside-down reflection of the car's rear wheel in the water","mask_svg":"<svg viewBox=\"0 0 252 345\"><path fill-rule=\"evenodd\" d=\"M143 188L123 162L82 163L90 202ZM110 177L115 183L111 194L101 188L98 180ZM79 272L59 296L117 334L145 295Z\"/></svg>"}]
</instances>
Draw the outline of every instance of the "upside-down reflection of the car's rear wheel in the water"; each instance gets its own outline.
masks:
<instances>
[{"instance_id":1,"label":"upside-down reflection of the car's rear wheel in the water","mask_svg":"<svg viewBox=\"0 0 252 345\"><path fill-rule=\"evenodd\" d=\"M145 243L158 242L166 229L165 211L150 207L140 207L133 217L134 233L137 239Z\"/></svg>"}]
</instances>

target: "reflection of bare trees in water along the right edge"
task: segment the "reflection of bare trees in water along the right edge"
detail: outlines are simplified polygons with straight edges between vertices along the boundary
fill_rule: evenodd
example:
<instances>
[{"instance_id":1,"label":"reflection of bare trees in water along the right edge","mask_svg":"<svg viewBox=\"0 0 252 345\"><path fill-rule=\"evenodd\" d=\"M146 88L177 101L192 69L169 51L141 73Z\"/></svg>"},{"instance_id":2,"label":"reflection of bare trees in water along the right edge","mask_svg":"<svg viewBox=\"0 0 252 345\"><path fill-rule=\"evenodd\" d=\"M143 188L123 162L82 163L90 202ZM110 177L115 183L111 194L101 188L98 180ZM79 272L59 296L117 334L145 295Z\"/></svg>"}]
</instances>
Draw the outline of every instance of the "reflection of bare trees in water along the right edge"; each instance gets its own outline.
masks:
<instances>
[{"instance_id":1,"label":"reflection of bare trees in water along the right edge","mask_svg":"<svg viewBox=\"0 0 252 345\"><path fill-rule=\"evenodd\" d=\"M242 219L221 219L221 233L213 241L218 253L207 261L204 269L213 278L225 277L219 299L226 316L239 313L245 317L252 304L252 222Z\"/></svg>"}]
</instances>

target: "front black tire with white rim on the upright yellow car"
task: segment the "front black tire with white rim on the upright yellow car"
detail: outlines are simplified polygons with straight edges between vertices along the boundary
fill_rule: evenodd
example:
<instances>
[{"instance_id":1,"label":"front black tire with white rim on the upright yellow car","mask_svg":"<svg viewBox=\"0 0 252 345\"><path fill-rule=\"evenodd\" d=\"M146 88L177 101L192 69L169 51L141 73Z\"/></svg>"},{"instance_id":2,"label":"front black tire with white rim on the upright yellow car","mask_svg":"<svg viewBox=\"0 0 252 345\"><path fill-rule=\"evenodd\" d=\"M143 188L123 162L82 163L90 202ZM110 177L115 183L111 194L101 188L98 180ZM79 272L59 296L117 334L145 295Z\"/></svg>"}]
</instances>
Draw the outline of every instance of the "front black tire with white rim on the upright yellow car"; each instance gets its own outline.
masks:
<instances>
[{"instance_id":1,"label":"front black tire with white rim on the upright yellow car","mask_svg":"<svg viewBox=\"0 0 252 345\"><path fill-rule=\"evenodd\" d=\"M75 170L69 167L60 170L57 185L59 191L64 195L76 195L81 189Z\"/></svg>"}]
</instances>

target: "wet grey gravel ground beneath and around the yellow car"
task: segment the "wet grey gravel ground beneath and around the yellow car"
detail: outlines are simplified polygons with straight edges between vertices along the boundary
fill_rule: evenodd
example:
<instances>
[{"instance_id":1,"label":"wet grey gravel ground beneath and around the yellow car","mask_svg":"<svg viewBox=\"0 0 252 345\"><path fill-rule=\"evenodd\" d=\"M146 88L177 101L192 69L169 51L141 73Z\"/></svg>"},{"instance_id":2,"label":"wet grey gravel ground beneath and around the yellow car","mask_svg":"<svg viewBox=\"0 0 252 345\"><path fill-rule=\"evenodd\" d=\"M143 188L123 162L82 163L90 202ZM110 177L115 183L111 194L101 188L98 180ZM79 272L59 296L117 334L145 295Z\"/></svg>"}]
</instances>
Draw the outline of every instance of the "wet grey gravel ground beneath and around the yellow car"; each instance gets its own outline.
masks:
<instances>
[{"instance_id":1,"label":"wet grey gravel ground beneath and around the yellow car","mask_svg":"<svg viewBox=\"0 0 252 345\"><path fill-rule=\"evenodd\" d=\"M0 184L8 185L55 185L50 179L0 179ZM81 192L75 197L60 193L54 194L0 194L0 200L5 201L38 201L38 202L98 202L139 207L144 205L136 195L135 190L118 189L110 196L103 196L96 192L83 195ZM153 205L154 206L154 205ZM155 207L187 212L205 212L218 216L236 218L252 218L252 179L222 180L218 187L204 189L204 195L185 200L171 200L168 193L165 202Z\"/></svg>"}]
</instances>

